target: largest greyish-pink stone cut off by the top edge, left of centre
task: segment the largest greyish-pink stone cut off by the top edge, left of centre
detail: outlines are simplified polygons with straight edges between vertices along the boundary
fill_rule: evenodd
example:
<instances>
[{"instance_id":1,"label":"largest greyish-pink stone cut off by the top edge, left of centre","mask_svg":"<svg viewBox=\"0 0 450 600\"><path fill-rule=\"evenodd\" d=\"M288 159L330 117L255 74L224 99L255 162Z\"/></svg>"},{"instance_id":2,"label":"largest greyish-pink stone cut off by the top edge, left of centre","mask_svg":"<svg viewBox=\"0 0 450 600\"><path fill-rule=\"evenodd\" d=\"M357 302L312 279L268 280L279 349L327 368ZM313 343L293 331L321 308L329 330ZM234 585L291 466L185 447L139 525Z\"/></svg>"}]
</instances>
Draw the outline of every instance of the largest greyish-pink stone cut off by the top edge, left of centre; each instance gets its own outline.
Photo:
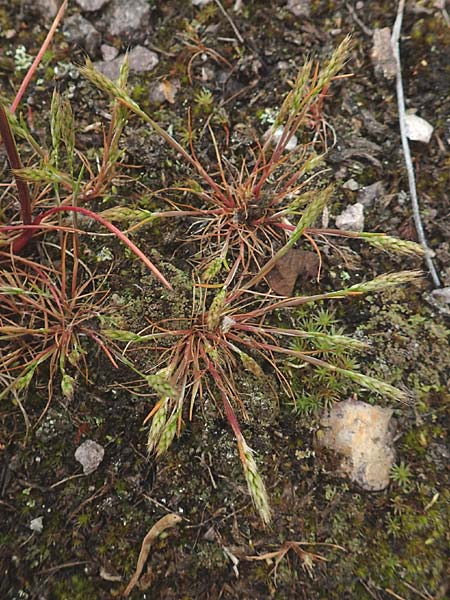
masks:
<instances>
[{"instance_id":1,"label":"largest greyish-pink stone cut off by the top edge, left of centre","mask_svg":"<svg viewBox=\"0 0 450 600\"><path fill-rule=\"evenodd\" d=\"M132 37L137 31L148 29L150 5L147 0L112 0L105 14L108 33L121 37Z\"/></svg>"}]
</instances>

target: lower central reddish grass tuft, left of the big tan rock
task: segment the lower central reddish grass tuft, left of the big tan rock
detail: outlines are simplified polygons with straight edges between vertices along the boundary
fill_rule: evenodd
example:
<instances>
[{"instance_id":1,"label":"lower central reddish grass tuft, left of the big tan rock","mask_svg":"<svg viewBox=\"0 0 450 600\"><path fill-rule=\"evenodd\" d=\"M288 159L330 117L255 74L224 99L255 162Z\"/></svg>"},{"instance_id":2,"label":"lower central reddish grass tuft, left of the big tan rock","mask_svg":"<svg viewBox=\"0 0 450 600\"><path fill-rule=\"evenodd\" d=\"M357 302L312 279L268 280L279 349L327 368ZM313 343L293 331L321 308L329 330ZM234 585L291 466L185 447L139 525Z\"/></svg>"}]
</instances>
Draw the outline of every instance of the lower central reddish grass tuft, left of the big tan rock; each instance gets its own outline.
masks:
<instances>
[{"instance_id":1,"label":"lower central reddish grass tuft, left of the big tan rock","mask_svg":"<svg viewBox=\"0 0 450 600\"><path fill-rule=\"evenodd\" d=\"M307 328L275 326L271 324L271 317L277 311L298 309L307 303L397 287L418 276L420 272L417 271L381 275L337 291L281 299L270 293L246 289L239 282L230 285L233 279L230 273L218 291L217 285L197 282L193 287L192 312L185 318L151 323L139 334L118 330L105 332L111 339L136 343L137 347L139 344L149 344L149 349L157 353L153 387L156 388L155 379L159 378L161 396L145 419L145 423L151 419L149 452L161 455L169 448L175 435L180 434L183 420L192 419L196 401L201 401L207 392L230 424L250 495L262 521L268 524L271 513L267 492L237 417L240 412L247 419L247 409L251 411L251 407L244 404L235 373L241 368L264 382L261 364L269 365L284 390L293 398L290 381L280 368L279 359L301 360L345 376L372 392L395 400L405 400L407 395L401 390L318 358L315 351L296 349L291 343L292 340L302 339L321 339L323 342L327 334L311 332ZM341 334L328 335L327 339L327 347L322 344L322 356L332 356L335 348L343 345L355 350L366 346L359 340ZM145 375L141 375L144 380Z\"/></svg>"}]
</instances>

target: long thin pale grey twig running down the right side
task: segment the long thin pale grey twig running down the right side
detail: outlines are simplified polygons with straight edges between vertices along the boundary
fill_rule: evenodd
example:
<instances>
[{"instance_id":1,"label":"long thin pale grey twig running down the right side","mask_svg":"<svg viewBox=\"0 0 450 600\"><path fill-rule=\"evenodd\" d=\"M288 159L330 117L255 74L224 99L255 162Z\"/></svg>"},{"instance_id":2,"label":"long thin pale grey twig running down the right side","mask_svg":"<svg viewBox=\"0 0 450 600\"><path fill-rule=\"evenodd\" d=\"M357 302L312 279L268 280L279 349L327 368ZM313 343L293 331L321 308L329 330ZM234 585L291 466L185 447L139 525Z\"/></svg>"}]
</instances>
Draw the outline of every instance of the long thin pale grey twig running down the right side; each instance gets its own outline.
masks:
<instances>
[{"instance_id":1,"label":"long thin pale grey twig running down the right side","mask_svg":"<svg viewBox=\"0 0 450 600\"><path fill-rule=\"evenodd\" d=\"M419 242L425 250L425 262L427 264L428 270L430 271L431 278L433 280L433 284L435 288L441 287L441 282L439 279L439 275L434 266L433 260L431 258L431 251L427 244L427 239L425 236L425 231L422 224L422 219L420 217L420 209L419 209L419 200L417 197L417 188L416 188L416 180L414 176L414 166L411 158L411 150L409 148L408 137L406 134L406 121L405 121L405 94L403 91L403 81L402 81L402 64L400 61L400 32L402 29L402 20L403 20L403 11L405 9L405 0L399 0L398 9L397 9L397 17L395 19L394 27L392 29L392 50L394 52L395 62L397 65L397 105L398 105L398 120L400 124L400 136L402 140L403 146L403 155L405 157L405 165L406 171L408 173L408 184L409 184L409 193L411 196L411 204L414 216L414 224L417 230L417 236L419 238Z\"/></svg>"}]
</instances>

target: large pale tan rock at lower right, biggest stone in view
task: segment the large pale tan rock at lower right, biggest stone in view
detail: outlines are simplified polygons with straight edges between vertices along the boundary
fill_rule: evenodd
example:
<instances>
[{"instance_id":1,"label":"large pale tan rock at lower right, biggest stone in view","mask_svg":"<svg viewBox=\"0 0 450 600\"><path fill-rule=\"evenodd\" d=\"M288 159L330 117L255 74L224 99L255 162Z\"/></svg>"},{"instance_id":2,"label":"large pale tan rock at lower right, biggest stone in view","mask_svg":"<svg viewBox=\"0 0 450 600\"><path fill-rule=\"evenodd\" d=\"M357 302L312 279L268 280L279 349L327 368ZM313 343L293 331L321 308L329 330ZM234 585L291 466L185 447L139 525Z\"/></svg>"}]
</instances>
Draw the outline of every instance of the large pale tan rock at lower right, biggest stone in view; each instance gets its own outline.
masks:
<instances>
[{"instance_id":1,"label":"large pale tan rock at lower right, biggest stone in view","mask_svg":"<svg viewBox=\"0 0 450 600\"><path fill-rule=\"evenodd\" d=\"M341 472L367 491L389 485L395 460L392 414L390 408L349 399L335 404L321 420L321 445L341 454Z\"/></svg>"}]
</instances>

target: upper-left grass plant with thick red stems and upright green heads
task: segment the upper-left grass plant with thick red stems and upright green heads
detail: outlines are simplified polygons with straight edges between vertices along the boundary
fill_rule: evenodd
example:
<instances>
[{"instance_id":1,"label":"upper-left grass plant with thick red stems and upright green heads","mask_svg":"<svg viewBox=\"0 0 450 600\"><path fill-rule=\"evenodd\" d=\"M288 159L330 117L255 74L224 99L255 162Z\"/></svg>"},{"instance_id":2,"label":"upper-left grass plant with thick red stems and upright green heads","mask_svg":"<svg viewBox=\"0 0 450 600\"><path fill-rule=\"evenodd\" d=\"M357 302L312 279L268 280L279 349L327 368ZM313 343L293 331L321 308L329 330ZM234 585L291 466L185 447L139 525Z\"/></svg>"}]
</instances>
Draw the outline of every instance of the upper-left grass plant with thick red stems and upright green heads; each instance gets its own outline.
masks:
<instances>
[{"instance_id":1,"label":"upper-left grass plant with thick red stems and upright green heads","mask_svg":"<svg viewBox=\"0 0 450 600\"><path fill-rule=\"evenodd\" d=\"M126 90L127 77L125 63L118 79L122 90ZM122 156L119 139L127 121L127 109L114 102L109 129L104 135L100 168L95 173L87 158L75 147L75 124L70 104L56 91L50 109L51 151L42 149L23 120L18 120L5 106L4 100L0 99L0 135L15 178L20 214L15 214L14 203L5 208L9 224L0 226L0 246L10 246L13 255L20 254L38 234L61 229L61 220L56 224L53 222L56 216L60 217L59 213L81 214L115 235L170 289L162 273L120 229L90 207L80 206L104 195L116 173ZM14 135L31 145L40 159L38 166L23 167ZM33 196L30 183L35 188ZM37 211L38 214L33 216ZM75 216L72 226L76 228L77 225Z\"/></svg>"}]
</instances>

